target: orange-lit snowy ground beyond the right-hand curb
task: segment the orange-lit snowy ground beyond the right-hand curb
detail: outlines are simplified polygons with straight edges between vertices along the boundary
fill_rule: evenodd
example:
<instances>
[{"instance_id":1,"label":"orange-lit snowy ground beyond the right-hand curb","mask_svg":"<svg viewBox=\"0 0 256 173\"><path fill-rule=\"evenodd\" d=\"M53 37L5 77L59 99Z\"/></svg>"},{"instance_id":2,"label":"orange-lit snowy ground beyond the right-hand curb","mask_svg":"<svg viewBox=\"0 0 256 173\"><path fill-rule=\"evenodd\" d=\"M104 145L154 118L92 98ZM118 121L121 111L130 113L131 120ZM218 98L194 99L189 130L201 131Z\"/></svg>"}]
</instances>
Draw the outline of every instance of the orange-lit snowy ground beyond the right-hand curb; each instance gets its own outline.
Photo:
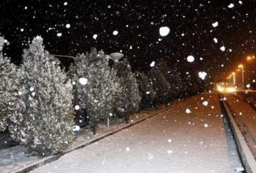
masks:
<instances>
[{"instance_id":1,"label":"orange-lit snowy ground beyond the right-hand curb","mask_svg":"<svg viewBox=\"0 0 256 173\"><path fill-rule=\"evenodd\" d=\"M245 137L251 153L256 158L256 111L236 96L230 94L225 94L224 96L226 97L226 102L234 111L233 117Z\"/></svg>"}]
</instances>

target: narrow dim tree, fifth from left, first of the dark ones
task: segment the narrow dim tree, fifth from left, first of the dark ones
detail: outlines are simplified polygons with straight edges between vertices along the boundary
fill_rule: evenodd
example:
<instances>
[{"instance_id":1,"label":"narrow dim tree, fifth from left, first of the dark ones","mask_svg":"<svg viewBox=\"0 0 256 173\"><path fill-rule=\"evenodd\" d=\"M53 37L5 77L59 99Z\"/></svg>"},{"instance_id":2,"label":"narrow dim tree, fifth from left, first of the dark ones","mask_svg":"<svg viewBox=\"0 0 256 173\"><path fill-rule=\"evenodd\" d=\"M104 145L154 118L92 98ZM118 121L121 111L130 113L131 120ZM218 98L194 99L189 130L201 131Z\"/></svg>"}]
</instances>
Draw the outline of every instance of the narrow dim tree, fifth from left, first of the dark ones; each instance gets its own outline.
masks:
<instances>
[{"instance_id":1,"label":"narrow dim tree, fifth from left, first of the dark ones","mask_svg":"<svg viewBox=\"0 0 256 173\"><path fill-rule=\"evenodd\" d=\"M152 83L148 79L147 75L142 72L137 72L137 81L139 85L139 92L141 95L140 108L152 107L155 99L155 91Z\"/></svg>"}]
</instances>

